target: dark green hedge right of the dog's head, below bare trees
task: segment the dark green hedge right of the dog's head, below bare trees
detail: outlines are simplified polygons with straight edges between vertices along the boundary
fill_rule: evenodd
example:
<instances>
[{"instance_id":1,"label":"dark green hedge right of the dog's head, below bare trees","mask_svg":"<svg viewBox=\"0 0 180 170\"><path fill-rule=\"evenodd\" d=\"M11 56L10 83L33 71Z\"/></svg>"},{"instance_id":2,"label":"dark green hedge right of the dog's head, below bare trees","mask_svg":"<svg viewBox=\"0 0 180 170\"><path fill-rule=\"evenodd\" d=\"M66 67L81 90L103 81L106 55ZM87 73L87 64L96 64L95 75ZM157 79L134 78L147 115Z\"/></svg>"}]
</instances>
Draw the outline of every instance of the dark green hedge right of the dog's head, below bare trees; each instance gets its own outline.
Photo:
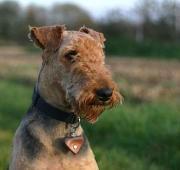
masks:
<instances>
[{"instance_id":1,"label":"dark green hedge right of the dog's head, below bare trees","mask_svg":"<svg viewBox=\"0 0 180 170\"><path fill-rule=\"evenodd\" d=\"M180 59L178 43L152 40L136 42L124 37L107 37L106 51L115 56Z\"/></svg>"}]
</instances>

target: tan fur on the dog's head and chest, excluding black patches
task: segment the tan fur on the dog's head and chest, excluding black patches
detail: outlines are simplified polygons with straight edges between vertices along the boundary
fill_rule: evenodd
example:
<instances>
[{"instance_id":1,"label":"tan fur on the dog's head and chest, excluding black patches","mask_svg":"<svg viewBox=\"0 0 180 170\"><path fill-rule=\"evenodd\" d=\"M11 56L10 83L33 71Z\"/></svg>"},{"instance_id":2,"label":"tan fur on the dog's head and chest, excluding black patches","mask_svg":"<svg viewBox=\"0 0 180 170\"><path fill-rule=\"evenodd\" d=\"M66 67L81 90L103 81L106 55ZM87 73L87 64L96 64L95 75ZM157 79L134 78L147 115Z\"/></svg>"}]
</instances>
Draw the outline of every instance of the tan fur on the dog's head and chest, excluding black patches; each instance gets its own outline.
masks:
<instances>
[{"instance_id":1,"label":"tan fur on the dog's head and chest, excluding black patches","mask_svg":"<svg viewBox=\"0 0 180 170\"><path fill-rule=\"evenodd\" d=\"M32 27L31 38L43 49L43 64L38 80L40 95L51 105L65 111L73 111L81 118L94 123L107 107L118 104L122 97L112 81L104 59L104 41L102 33L82 27L80 31L67 31L64 26ZM76 51L73 61L65 56ZM97 99L95 91L99 88L113 89L113 95L107 102ZM33 118L30 118L33 120ZM94 155L88 145L82 155L56 152L53 141L64 137L69 131L65 123L60 123L46 132L39 121L28 126L43 144L43 152L33 162L25 156L21 142L24 125L18 128L14 140L13 158L10 170L97 170ZM81 127L77 135L83 133Z\"/></svg>"}]
</instances>

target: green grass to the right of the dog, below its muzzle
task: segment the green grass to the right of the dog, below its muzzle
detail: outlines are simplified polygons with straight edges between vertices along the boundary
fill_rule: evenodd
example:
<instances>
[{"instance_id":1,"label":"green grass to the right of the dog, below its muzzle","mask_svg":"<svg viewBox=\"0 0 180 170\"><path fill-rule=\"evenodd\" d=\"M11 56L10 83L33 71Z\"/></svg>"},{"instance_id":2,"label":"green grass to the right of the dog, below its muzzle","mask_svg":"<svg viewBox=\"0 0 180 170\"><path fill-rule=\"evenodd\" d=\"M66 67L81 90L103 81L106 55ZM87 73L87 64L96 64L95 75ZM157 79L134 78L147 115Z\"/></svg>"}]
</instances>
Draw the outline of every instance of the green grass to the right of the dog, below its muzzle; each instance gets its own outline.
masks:
<instances>
[{"instance_id":1,"label":"green grass to the right of the dog, below its muzzle","mask_svg":"<svg viewBox=\"0 0 180 170\"><path fill-rule=\"evenodd\" d=\"M125 104L105 113L87 128L102 169L178 170L178 110L176 104Z\"/></svg>"}]
</instances>

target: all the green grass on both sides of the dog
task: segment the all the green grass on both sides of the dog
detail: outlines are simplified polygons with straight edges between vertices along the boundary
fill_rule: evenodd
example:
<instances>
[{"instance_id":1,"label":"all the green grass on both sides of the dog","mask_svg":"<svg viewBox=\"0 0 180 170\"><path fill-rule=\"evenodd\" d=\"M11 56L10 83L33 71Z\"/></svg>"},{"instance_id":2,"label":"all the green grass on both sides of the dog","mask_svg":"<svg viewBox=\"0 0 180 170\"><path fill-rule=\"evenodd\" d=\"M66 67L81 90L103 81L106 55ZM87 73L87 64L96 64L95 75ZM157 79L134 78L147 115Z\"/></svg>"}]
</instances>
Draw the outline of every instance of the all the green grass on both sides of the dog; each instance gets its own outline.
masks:
<instances>
[{"instance_id":1,"label":"all the green grass on both sides of the dog","mask_svg":"<svg viewBox=\"0 0 180 170\"><path fill-rule=\"evenodd\" d=\"M0 82L0 170L12 136L31 102L33 87ZM179 170L180 106L176 101L125 103L94 124L83 122L101 170Z\"/></svg>"}]
</instances>

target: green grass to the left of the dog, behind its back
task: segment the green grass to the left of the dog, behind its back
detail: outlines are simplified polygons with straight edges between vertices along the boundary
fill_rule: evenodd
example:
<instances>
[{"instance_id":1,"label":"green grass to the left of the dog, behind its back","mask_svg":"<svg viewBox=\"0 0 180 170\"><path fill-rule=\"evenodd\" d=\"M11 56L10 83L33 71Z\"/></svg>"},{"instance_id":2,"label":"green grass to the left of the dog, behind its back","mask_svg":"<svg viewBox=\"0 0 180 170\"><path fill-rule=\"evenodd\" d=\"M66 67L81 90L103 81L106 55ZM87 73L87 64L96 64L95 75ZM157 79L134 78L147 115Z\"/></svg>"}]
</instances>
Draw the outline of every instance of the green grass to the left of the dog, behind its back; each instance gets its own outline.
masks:
<instances>
[{"instance_id":1,"label":"green grass to the left of the dog, behind its back","mask_svg":"<svg viewBox=\"0 0 180 170\"><path fill-rule=\"evenodd\" d=\"M8 165L12 136L30 104L31 88L1 81L0 91L0 170L5 170Z\"/></svg>"}]
</instances>

